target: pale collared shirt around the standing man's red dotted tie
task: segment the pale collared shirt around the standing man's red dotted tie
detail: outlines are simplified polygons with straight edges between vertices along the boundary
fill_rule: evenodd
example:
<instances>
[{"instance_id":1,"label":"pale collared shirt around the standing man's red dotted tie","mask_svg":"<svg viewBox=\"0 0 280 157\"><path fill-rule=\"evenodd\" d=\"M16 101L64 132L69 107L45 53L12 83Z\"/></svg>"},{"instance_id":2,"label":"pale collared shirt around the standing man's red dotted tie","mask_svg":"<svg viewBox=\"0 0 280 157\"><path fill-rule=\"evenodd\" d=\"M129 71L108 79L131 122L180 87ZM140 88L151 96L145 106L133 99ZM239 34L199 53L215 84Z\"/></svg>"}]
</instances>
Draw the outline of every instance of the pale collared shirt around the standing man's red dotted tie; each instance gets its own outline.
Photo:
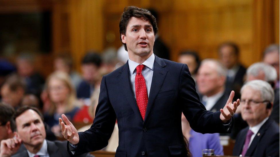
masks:
<instances>
[{"instance_id":1,"label":"pale collared shirt around the standing man's red dotted tie","mask_svg":"<svg viewBox=\"0 0 280 157\"><path fill-rule=\"evenodd\" d=\"M149 98L151 84L152 84L152 79L153 79L153 63L154 63L154 61L155 61L155 55L152 54L147 60L145 60L142 63L143 65L145 65L145 67L142 70L142 75L145 78L148 98ZM136 63L135 61L132 61L132 60L128 59L128 66L129 66L129 71L130 71L130 82L131 82L132 90L134 92L135 99L136 99L136 94L135 94L135 76L136 76L136 67L138 65L140 65L140 64Z\"/></svg>"}]
</instances>

